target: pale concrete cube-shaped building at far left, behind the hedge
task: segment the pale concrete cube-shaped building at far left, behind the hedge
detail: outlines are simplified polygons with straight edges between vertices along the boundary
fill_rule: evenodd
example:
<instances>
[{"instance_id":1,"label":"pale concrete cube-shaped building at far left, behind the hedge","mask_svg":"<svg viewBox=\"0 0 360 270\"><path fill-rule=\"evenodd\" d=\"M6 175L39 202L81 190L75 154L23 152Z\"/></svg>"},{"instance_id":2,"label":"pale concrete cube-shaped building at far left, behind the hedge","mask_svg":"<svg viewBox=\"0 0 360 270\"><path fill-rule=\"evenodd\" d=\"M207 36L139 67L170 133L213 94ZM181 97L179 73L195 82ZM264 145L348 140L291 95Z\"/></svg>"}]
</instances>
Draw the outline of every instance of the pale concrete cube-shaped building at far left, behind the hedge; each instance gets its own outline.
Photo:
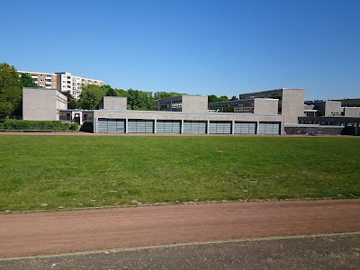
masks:
<instances>
[{"instance_id":1,"label":"pale concrete cube-shaped building at far left, behind the hedge","mask_svg":"<svg viewBox=\"0 0 360 270\"><path fill-rule=\"evenodd\" d=\"M67 109L67 96L56 89L23 88L23 120L57 121Z\"/></svg>"}]
</instances>

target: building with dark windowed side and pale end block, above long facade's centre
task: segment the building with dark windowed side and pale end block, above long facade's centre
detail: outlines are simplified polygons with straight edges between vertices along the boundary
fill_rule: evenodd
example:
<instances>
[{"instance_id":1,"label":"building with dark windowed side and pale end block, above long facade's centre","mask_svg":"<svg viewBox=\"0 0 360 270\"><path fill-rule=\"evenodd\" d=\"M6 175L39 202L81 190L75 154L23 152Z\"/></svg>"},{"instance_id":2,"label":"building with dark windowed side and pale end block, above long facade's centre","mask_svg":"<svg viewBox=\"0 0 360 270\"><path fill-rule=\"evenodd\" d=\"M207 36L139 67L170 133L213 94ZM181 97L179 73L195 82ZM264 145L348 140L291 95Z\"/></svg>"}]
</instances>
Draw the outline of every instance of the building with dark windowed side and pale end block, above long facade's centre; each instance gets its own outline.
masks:
<instances>
[{"instance_id":1,"label":"building with dark windowed side and pale end block, above long facade's centre","mask_svg":"<svg viewBox=\"0 0 360 270\"><path fill-rule=\"evenodd\" d=\"M157 111L168 112L208 112L207 95L176 95L153 102Z\"/></svg>"}]
</instances>

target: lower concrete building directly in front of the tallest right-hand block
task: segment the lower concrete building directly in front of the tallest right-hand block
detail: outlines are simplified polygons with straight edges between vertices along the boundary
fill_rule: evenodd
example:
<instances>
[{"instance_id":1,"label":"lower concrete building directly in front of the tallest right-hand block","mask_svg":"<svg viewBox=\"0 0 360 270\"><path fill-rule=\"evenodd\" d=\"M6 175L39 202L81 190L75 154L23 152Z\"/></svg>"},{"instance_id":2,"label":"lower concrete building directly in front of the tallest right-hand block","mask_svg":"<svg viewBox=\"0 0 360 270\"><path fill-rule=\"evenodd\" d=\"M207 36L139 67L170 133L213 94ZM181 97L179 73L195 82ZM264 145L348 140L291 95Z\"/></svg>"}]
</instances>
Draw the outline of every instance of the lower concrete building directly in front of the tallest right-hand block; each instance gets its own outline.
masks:
<instances>
[{"instance_id":1,"label":"lower concrete building directly in front of the tallest right-hand block","mask_svg":"<svg viewBox=\"0 0 360 270\"><path fill-rule=\"evenodd\" d=\"M256 114L277 114L279 100L272 98L248 98L228 102L209 103L209 111L247 112Z\"/></svg>"}]
</instances>

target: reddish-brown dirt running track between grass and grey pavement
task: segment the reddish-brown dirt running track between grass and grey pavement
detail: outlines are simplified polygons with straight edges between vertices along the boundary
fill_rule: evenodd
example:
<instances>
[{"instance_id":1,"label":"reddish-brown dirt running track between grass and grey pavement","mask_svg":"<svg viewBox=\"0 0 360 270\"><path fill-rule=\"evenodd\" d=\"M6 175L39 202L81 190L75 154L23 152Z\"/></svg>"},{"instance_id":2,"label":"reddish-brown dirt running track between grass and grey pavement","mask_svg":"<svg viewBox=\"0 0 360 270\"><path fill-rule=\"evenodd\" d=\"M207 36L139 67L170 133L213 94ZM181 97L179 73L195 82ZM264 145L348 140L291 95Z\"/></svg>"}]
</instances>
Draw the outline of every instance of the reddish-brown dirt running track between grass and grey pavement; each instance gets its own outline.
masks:
<instances>
[{"instance_id":1,"label":"reddish-brown dirt running track between grass and grey pavement","mask_svg":"<svg viewBox=\"0 0 360 270\"><path fill-rule=\"evenodd\" d=\"M350 231L360 231L360 200L3 214L0 257Z\"/></svg>"}]
</instances>

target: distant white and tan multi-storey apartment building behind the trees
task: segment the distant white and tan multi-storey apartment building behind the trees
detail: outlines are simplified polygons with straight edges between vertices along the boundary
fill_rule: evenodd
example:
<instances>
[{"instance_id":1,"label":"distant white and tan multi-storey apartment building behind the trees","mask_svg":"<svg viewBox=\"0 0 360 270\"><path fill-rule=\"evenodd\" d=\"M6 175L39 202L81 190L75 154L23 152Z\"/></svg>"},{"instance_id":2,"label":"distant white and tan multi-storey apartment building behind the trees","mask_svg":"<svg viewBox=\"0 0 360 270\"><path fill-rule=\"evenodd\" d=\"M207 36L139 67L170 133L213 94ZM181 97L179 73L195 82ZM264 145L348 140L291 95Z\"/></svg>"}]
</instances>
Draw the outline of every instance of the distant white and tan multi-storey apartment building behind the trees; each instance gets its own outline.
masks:
<instances>
[{"instance_id":1,"label":"distant white and tan multi-storey apartment building behind the trees","mask_svg":"<svg viewBox=\"0 0 360 270\"><path fill-rule=\"evenodd\" d=\"M68 92L78 99L81 94L82 85L103 85L103 81L89 79L81 76L73 76L69 72L43 73L32 71L18 71L29 74L37 85L46 89L58 89L60 92Z\"/></svg>"}]
</instances>

